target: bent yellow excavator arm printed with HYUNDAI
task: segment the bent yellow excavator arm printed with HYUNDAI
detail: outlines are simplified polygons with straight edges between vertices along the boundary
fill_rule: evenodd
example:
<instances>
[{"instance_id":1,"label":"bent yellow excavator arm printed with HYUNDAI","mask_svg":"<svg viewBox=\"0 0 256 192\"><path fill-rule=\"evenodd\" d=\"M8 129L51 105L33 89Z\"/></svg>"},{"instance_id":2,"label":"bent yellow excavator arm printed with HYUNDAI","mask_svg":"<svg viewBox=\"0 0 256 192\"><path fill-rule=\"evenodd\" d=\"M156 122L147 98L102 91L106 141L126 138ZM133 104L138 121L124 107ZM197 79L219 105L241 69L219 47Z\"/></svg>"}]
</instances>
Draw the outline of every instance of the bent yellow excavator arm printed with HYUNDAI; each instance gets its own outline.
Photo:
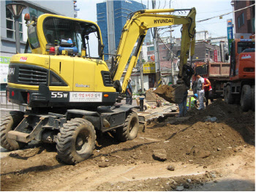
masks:
<instances>
[{"instance_id":1,"label":"bent yellow excavator arm printed with HYUNDAI","mask_svg":"<svg viewBox=\"0 0 256 192\"><path fill-rule=\"evenodd\" d=\"M190 10L190 12L187 16L159 14L162 12L176 12L181 10ZM140 49L143 44L143 39L146 36L148 29L159 26L173 26L179 24L183 25L181 33L181 59L178 73L178 82L180 84L184 83L182 77L184 76L184 65L187 64L187 59L189 57L189 48L191 48L191 56L194 55L195 50L195 15L195 8L145 9L134 12L132 15L130 15L122 30L116 58L112 61L112 67L110 70L110 74L115 85L115 82L118 82L121 79L124 69L129 61L129 57L132 54L133 47L135 47L136 42L138 42L135 53L133 53L132 57L130 58L127 73L122 82L120 89L121 93L124 93L127 88L129 77L132 74L132 69L137 64Z\"/></svg>"}]
</instances>

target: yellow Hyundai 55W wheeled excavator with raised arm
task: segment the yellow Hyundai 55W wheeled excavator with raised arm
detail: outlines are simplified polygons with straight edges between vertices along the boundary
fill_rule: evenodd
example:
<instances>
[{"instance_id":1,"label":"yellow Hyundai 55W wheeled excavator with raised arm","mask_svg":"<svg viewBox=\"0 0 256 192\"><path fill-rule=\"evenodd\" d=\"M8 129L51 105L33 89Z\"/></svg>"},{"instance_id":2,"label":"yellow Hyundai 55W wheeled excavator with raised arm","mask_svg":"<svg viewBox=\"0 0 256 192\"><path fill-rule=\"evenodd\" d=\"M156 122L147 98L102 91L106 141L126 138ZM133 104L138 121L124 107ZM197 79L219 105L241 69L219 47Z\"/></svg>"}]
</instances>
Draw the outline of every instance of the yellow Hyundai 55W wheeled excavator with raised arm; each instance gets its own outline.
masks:
<instances>
[{"instance_id":1,"label":"yellow Hyundai 55W wheeled excavator with raised arm","mask_svg":"<svg viewBox=\"0 0 256 192\"><path fill-rule=\"evenodd\" d=\"M184 66L189 48L190 55L194 53L196 12L192 8L187 16L161 14L175 11L146 9L130 15L110 70L96 23L50 14L30 20L26 15L26 53L12 56L7 85L8 100L26 106L26 111L1 119L1 146L18 150L32 140L56 143L61 161L77 164L90 157L97 131L111 131L120 142L137 137L137 113L116 101L124 95L148 28L183 25L178 86L187 85Z\"/></svg>"}]
</instances>

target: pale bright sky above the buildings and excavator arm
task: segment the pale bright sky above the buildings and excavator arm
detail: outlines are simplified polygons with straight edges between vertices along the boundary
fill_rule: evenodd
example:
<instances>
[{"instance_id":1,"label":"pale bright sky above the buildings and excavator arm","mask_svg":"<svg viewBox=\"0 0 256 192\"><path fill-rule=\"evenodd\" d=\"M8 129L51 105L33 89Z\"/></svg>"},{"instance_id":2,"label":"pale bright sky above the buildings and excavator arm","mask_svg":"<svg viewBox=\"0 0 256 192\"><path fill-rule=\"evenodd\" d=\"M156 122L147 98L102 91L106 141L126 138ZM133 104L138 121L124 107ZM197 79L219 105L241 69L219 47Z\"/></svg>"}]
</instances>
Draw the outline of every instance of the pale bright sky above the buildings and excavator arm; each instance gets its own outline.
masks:
<instances>
[{"instance_id":1,"label":"pale bright sky above the buildings and excavator arm","mask_svg":"<svg viewBox=\"0 0 256 192\"><path fill-rule=\"evenodd\" d=\"M124 1L124 0L121 0ZM135 0L142 2L149 9L152 9L151 0ZM80 11L78 12L78 18L83 20L91 20L97 22L97 3L101 3L103 0L77 0L77 5ZM231 0L156 0L156 8L158 9L190 9L195 7L197 11L196 21L206 18L212 18L215 16L223 15L233 11L233 7L230 4ZM174 15L178 15L175 12ZM233 14L224 15L222 19L219 17L206 20L200 23L196 23L197 31L208 31L209 37L225 37L227 36L227 19L233 18ZM181 37L180 28L173 28L173 37ZM170 33L159 33L160 37L167 37Z\"/></svg>"}]
</instances>

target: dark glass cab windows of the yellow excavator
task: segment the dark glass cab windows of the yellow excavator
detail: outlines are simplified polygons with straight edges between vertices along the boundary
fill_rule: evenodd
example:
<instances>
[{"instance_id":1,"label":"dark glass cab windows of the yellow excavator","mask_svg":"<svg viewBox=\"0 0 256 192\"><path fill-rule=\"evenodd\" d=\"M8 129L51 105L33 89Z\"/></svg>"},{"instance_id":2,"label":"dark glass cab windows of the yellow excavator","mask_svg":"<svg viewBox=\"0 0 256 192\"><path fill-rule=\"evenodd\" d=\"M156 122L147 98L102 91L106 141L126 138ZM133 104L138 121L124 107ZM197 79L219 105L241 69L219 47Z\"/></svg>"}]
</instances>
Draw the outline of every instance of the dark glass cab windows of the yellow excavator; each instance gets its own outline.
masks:
<instances>
[{"instance_id":1,"label":"dark glass cab windows of the yellow excavator","mask_svg":"<svg viewBox=\"0 0 256 192\"><path fill-rule=\"evenodd\" d=\"M99 28L93 23L49 17L44 20L43 31L50 44L60 45L61 39L71 39L78 54L86 49L86 57L100 58L97 47L100 40Z\"/></svg>"}]
</instances>

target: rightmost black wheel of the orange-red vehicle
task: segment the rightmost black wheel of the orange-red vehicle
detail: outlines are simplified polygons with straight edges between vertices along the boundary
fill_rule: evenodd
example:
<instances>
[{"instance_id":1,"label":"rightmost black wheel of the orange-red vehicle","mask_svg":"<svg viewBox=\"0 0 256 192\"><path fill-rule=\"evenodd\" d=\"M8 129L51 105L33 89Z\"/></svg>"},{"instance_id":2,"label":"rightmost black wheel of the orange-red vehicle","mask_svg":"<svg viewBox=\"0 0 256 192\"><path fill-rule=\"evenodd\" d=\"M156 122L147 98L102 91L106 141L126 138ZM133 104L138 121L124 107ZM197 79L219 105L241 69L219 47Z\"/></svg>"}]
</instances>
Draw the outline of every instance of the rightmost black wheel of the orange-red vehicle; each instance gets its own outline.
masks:
<instances>
[{"instance_id":1,"label":"rightmost black wheel of the orange-red vehicle","mask_svg":"<svg viewBox=\"0 0 256 192\"><path fill-rule=\"evenodd\" d=\"M240 99L241 108L244 112L249 111L252 104L252 91L250 85L244 85Z\"/></svg>"}]
</instances>

